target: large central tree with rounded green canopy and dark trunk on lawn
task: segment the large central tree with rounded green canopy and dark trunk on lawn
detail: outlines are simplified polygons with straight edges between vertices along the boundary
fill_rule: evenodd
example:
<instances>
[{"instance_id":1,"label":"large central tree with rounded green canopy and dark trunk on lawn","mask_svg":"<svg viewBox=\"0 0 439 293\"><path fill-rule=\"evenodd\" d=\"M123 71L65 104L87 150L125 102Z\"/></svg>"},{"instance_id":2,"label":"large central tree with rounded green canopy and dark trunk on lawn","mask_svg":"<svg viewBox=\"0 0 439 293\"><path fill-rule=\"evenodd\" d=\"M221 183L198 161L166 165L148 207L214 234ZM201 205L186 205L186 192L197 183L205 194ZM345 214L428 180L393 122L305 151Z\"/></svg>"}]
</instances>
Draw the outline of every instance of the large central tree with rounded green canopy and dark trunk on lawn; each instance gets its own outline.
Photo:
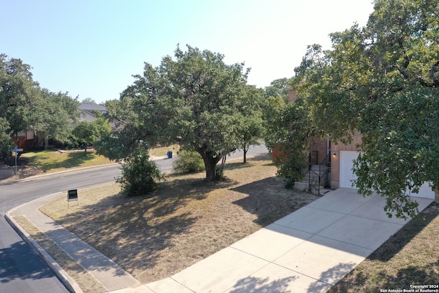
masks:
<instances>
[{"instance_id":1,"label":"large central tree with rounded green canopy and dark trunk on lawn","mask_svg":"<svg viewBox=\"0 0 439 293\"><path fill-rule=\"evenodd\" d=\"M124 155L141 141L178 142L202 156L206 178L214 180L218 161L243 145L240 126L247 116L241 105L254 97L244 63L226 65L223 59L188 45L187 51L177 47L174 58L163 57L158 67L145 63L121 99L107 104L108 116L123 128L99 152Z\"/></svg>"}]
</instances>

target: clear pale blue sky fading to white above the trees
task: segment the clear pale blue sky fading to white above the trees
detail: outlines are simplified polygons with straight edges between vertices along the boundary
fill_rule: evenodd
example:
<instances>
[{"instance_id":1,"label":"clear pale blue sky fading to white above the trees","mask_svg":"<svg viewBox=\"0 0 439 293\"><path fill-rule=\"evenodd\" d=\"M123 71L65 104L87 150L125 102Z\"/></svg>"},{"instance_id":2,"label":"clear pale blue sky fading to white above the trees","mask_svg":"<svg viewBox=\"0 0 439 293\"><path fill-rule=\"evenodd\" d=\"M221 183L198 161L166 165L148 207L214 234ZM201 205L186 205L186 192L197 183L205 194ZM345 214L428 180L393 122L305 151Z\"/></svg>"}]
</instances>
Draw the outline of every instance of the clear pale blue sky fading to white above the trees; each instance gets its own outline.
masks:
<instances>
[{"instance_id":1,"label":"clear pale blue sky fading to white above the trees","mask_svg":"<svg viewBox=\"0 0 439 293\"><path fill-rule=\"evenodd\" d=\"M291 78L307 45L366 25L372 0L2 1L0 54L32 67L34 80L80 101L119 99L179 45L245 62L248 84Z\"/></svg>"}]
</instances>

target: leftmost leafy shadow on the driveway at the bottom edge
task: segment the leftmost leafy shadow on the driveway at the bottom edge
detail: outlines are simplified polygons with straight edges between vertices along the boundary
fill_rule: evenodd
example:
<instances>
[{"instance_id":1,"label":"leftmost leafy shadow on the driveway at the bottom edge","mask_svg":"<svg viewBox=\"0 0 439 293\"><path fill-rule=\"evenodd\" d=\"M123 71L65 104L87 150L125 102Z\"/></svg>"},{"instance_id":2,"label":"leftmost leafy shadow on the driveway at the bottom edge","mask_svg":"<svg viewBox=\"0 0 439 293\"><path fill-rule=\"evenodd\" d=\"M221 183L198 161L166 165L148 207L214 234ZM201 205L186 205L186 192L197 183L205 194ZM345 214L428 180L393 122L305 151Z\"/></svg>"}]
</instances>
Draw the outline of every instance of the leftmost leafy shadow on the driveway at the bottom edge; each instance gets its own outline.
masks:
<instances>
[{"instance_id":1,"label":"leftmost leafy shadow on the driveway at the bottom edge","mask_svg":"<svg viewBox=\"0 0 439 293\"><path fill-rule=\"evenodd\" d=\"M290 283L297 277L287 277L283 279L270 280L269 278L246 277L237 282L230 293L240 292L261 292L261 293L287 293Z\"/></svg>"}]
</instances>

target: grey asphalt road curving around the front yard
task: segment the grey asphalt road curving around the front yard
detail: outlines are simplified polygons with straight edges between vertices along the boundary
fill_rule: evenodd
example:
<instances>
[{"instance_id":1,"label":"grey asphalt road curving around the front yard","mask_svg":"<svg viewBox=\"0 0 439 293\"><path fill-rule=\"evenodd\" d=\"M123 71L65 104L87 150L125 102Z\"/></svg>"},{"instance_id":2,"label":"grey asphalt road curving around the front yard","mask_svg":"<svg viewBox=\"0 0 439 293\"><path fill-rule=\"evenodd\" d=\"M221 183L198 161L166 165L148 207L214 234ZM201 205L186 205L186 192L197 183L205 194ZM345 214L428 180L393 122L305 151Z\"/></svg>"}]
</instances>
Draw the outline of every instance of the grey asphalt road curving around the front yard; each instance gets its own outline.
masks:
<instances>
[{"instance_id":1,"label":"grey asphalt road curving around the front yard","mask_svg":"<svg viewBox=\"0 0 439 293\"><path fill-rule=\"evenodd\" d=\"M247 154L265 152L267 149L264 146L254 146ZM237 156L242 156L242 153L230 154L230 158ZM174 159L159 159L156 163L162 171L166 171L172 168ZM112 181L120 174L119 165L111 165L0 185L0 293L68 292L6 222L3 217L5 212L47 194Z\"/></svg>"}]
</instances>

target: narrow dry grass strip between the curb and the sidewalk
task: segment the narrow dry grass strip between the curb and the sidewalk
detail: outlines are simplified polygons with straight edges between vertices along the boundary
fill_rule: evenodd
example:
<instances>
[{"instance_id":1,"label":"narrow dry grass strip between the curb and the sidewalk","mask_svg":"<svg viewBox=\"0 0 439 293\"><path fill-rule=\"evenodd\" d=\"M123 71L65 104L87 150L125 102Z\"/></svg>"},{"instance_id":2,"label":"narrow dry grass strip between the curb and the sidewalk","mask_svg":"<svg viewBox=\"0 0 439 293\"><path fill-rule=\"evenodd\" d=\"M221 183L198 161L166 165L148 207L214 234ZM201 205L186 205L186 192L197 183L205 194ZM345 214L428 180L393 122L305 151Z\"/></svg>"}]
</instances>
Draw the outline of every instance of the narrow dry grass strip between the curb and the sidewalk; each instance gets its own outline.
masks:
<instances>
[{"instance_id":1,"label":"narrow dry grass strip between the curb and the sidewalk","mask_svg":"<svg viewBox=\"0 0 439 293\"><path fill-rule=\"evenodd\" d=\"M91 274L71 259L64 250L29 222L24 215L17 215L14 220L78 283L84 293L106 292L105 288Z\"/></svg>"}]
</instances>

